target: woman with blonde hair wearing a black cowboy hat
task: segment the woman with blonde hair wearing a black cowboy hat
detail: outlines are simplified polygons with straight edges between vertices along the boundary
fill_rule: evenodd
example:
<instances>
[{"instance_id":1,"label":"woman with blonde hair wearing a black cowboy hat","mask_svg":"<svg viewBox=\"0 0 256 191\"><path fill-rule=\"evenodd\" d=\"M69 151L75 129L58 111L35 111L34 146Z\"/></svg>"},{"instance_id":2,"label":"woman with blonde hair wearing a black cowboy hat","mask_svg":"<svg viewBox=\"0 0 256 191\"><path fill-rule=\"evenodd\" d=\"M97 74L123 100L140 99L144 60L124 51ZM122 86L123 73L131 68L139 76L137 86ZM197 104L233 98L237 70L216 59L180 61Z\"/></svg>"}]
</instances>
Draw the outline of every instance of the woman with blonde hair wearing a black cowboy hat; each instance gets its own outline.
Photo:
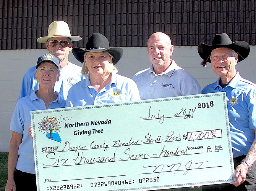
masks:
<instances>
[{"instance_id":1,"label":"woman with blonde hair wearing a black cowboy hat","mask_svg":"<svg viewBox=\"0 0 256 191\"><path fill-rule=\"evenodd\" d=\"M140 100L134 81L118 75L114 66L123 49L110 48L104 35L92 34L85 50L73 48L72 52L83 63L82 74L87 78L71 87L66 107Z\"/></svg>"}]
</instances>

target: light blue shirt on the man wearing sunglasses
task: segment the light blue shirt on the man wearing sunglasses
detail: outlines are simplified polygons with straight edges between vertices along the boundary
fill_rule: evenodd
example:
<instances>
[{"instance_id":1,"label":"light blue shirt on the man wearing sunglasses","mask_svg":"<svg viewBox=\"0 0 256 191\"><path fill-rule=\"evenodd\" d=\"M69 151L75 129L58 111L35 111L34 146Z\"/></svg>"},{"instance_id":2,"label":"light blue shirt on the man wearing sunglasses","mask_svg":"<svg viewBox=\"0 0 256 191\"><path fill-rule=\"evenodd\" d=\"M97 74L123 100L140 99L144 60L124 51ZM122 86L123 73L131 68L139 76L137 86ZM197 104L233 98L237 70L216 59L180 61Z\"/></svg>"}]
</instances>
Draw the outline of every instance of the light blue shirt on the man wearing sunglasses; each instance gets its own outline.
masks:
<instances>
[{"instance_id":1,"label":"light blue shirt on the man wearing sunglasses","mask_svg":"<svg viewBox=\"0 0 256 191\"><path fill-rule=\"evenodd\" d=\"M36 66L29 68L29 70L25 73L22 80L21 91L19 92L18 100L21 99L21 97L30 95L34 90L39 89L39 83L35 78L35 71ZM71 86L83 79L84 76L81 74L81 67L68 62L68 65L60 68L60 80L56 81L54 91L59 92L60 96L66 100L68 91Z\"/></svg>"}]
</instances>

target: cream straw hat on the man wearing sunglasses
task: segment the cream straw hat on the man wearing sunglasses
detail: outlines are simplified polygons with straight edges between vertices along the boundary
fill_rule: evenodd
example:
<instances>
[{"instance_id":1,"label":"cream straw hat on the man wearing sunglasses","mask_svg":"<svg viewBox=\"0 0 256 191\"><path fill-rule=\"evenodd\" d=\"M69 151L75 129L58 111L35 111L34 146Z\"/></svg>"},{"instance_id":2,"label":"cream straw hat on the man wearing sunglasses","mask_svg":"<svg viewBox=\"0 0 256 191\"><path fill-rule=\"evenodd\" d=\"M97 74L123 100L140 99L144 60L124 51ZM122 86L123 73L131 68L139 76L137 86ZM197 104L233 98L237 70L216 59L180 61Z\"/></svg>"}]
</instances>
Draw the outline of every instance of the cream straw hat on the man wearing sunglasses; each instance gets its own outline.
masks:
<instances>
[{"instance_id":1,"label":"cream straw hat on the man wearing sunglasses","mask_svg":"<svg viewBox=\"0 0 256 191\"><path fill-rule=\"evenodd\" d=\"M71 36L70 29L65 21L53 21L48 27L47 36L37 38L37 42L45 43L52 37L68 37L71 41L82 40L79 36Z\"/></svg>"}]
</instances>

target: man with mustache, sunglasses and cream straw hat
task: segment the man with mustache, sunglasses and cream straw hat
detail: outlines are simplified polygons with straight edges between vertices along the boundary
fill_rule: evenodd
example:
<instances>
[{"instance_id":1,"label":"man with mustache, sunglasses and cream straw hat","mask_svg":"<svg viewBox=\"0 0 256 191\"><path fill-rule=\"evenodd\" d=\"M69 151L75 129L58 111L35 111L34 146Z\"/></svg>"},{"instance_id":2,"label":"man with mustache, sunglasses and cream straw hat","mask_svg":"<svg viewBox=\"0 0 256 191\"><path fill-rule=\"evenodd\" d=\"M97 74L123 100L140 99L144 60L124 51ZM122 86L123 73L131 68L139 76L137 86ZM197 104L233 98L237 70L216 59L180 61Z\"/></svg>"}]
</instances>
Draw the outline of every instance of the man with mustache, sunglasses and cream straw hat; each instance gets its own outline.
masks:
<instances>
[{"instance_id":1,"label":"man with mustache, sunglasses and cream straw hat","mask_svg":"<svg viewBox=\"0 0 256 191\"><path fill-rule=\"evenodd\" d=\"M37 38L37 42L45 43L47 51L56 56L60 62L60 80L56 81L54 91L60 93L66 99L70 87L84 79L81 75L81 67L68 61L68 55L72 49L72 42L79 41L79 36L71 36L69 26L64 21L53 21L48 28L46 37ZM36 67L32 67L23 77L19 98L30 95L39 88L35 77Z\"/></svg>"}]
</instances>

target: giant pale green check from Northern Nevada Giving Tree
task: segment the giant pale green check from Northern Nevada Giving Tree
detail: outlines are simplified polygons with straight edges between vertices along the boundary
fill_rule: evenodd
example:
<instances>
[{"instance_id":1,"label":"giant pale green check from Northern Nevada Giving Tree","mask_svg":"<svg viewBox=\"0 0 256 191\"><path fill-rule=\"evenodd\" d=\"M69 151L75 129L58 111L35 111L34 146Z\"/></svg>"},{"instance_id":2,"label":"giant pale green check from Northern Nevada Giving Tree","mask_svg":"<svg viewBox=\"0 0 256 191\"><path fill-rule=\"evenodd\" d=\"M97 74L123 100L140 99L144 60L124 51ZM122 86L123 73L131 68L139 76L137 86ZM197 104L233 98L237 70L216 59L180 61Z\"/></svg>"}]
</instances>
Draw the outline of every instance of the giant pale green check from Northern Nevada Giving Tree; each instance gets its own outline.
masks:
<instances>
[{"instance_id":1,"label":"giant pale green check from Northern Nevada Giving Tree","mask_svg":"<svg viewBox=\"0 0 256 191\"><path fill-rule=\"evenodd\" d=\"M233 181L225 92L31 111L37 190Z\"/></svg>"}]
</instances>

